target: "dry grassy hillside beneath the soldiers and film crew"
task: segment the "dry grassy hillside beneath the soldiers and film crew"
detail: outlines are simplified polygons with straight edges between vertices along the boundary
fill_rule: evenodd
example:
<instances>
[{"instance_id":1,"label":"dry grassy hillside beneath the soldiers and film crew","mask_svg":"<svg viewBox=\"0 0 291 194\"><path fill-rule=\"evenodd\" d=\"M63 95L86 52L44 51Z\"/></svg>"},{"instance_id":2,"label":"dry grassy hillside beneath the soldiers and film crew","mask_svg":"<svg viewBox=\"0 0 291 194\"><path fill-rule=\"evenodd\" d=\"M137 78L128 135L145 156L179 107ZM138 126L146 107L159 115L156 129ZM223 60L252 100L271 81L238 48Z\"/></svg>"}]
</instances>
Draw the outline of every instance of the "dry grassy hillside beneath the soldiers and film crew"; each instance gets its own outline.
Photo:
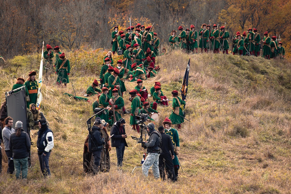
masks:
<instances>
[{"instance_id":1,"label":"dry grassy hillside beneath the soldiers and film crew","mask_svg":"<svg viewBox=\"0 0 291 194\"><path fill-rule=\"evenodd\" d=\"M77 96L83 96L91 82L99 77L106 51L69 52L72 65L70 81ZM161 66L157 77L146 80L146 88L162 83L163 93L180 89L189 55L180 51L157 57ZM114 58L115 65L118 59ZM16 78L26 78L30 69L38 69L40 55L17 56L1 66L0 97L12 88ZM96 65L97 64L97 65ZM32 168L27 183L6 173L0 175L0 193L290 193L291 170L291 96L290 62L223 54L191 55L187 119L179 130L179 180L155 180L143 177L139 166L143 149L127 138L123 171L117 171L115 148L111 150L110 173L86 175L82 167L83 146L88 134L86 120L92 114L91 102L75 101L57 87L56 75L44 81L42 111L54 132L55 147L50 157L52 177L43 179L32 146ZM135 83L126 82L127 91ZM130 108L125 94L125 108ZM1 102L2 102L1 101ZM159 125L170 115L169 107L158 106ZM137 136L125 115L126 133ZM36 142L37 130L32 133ZM3 156L5 156L3 152ZM7 158L3 159L3 171Z\"/></svg>"}]
</instances>

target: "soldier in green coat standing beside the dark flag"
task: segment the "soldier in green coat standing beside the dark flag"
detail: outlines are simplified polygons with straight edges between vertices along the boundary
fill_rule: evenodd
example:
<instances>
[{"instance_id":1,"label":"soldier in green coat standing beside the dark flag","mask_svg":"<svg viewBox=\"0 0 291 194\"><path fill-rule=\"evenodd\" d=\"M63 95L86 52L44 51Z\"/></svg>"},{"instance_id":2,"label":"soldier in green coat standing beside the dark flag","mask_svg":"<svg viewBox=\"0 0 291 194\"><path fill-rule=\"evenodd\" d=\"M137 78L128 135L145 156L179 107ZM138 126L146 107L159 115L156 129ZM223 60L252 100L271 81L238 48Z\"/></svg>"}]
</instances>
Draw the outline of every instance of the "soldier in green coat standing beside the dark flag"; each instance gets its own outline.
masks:
<instances>
[{"instance_id":1,"label":"soldier in green coat standing beside the dark flag","mask_svg":"<svg viewBox=\"0 0 291 194\"><path fill-rule=\"evenodd\" d=\"M172 121L172 124L177 124L178 129L181 128L181 123L184 123L184 117L181 105L185 105L186 102L184 100L181 100L180 97L178 97L178 91L173 90L172 91L172 97L173 97L173 112L171 113L169 119ZM180 116L182 117L180 117Z\"/></svg>"}]
</instances>

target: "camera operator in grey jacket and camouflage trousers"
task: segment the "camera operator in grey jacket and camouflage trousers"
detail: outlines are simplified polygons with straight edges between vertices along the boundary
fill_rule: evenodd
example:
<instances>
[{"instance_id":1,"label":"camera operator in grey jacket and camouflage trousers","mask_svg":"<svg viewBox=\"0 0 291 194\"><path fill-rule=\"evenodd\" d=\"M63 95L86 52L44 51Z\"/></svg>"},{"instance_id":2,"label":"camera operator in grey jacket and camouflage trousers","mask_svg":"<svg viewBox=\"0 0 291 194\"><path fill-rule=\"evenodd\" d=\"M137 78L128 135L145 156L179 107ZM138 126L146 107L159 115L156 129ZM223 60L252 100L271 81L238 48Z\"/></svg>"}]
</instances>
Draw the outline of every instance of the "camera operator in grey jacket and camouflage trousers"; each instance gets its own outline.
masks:
<instances>
[{"instance_id":1,"label":"camera operator in grey jacket and camouflage trousers","mask_svg":"<svg viewBox=\"0 0 291 194\"><path fill-rule=\"evenodd\" d=\"M159 156L161 154L161 143L162 136L159 132L155 130L155 125L153 123L149 123L147 125L148 133L150 137L148 141L143 143L144 148L147 149L148 156L145 158L142 166L142 172L145 177L148 176L148 170L152 166L152 172L154 177L158 179L160 177L159 173Z\"/></svg>"}]
</instances>

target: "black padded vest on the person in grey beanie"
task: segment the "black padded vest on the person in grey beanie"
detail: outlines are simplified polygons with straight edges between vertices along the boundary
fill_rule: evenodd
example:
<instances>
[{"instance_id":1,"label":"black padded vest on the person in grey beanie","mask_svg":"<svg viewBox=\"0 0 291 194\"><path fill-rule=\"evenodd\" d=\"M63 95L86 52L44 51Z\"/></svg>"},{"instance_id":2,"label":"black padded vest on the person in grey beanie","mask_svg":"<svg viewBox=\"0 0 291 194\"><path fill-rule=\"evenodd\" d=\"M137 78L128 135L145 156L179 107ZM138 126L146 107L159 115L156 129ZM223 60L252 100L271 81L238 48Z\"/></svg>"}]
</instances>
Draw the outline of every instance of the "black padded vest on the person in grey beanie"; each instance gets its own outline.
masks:
<instances>
[{"instance_id":1,"label":"black padded vest on the person in grey beanie","mask_svg":"<svg viewBox=\"0 0 291 194\"><path fill-rule=\"evenodd\" d=\"M16 136L16 132L10 135L9 149L13 153L13 158L21 159L28 157L30 152L31 142L28 134L21 129L19 137Z\"/></svg>"}]
</instances>

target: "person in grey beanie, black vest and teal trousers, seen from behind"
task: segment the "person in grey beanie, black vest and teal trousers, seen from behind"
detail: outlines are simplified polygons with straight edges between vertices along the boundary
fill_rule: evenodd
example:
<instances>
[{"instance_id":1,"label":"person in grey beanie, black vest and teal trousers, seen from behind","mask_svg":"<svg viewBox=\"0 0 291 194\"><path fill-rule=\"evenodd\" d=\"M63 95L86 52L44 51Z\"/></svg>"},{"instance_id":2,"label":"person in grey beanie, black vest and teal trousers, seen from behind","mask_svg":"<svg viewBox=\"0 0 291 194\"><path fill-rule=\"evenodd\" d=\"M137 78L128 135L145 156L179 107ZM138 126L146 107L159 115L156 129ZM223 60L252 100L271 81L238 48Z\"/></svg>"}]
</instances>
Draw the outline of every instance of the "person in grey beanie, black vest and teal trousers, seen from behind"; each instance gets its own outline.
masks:
<instances>
[{"instance_id":1,"label":"person in grey beanie, black vest and teal trousers, seen from behind","mask_svg":"<svg viewBox=\"0 0 291 194\"><path fill-rule=\"evenodd\" d=\"M31 141L29 135L23 131L22 122L17 121L15 123L15 132L10 135L9 139L9 149L13 156L16 179L27 178L30 147Z\"/></svg>"}]
</instances>

